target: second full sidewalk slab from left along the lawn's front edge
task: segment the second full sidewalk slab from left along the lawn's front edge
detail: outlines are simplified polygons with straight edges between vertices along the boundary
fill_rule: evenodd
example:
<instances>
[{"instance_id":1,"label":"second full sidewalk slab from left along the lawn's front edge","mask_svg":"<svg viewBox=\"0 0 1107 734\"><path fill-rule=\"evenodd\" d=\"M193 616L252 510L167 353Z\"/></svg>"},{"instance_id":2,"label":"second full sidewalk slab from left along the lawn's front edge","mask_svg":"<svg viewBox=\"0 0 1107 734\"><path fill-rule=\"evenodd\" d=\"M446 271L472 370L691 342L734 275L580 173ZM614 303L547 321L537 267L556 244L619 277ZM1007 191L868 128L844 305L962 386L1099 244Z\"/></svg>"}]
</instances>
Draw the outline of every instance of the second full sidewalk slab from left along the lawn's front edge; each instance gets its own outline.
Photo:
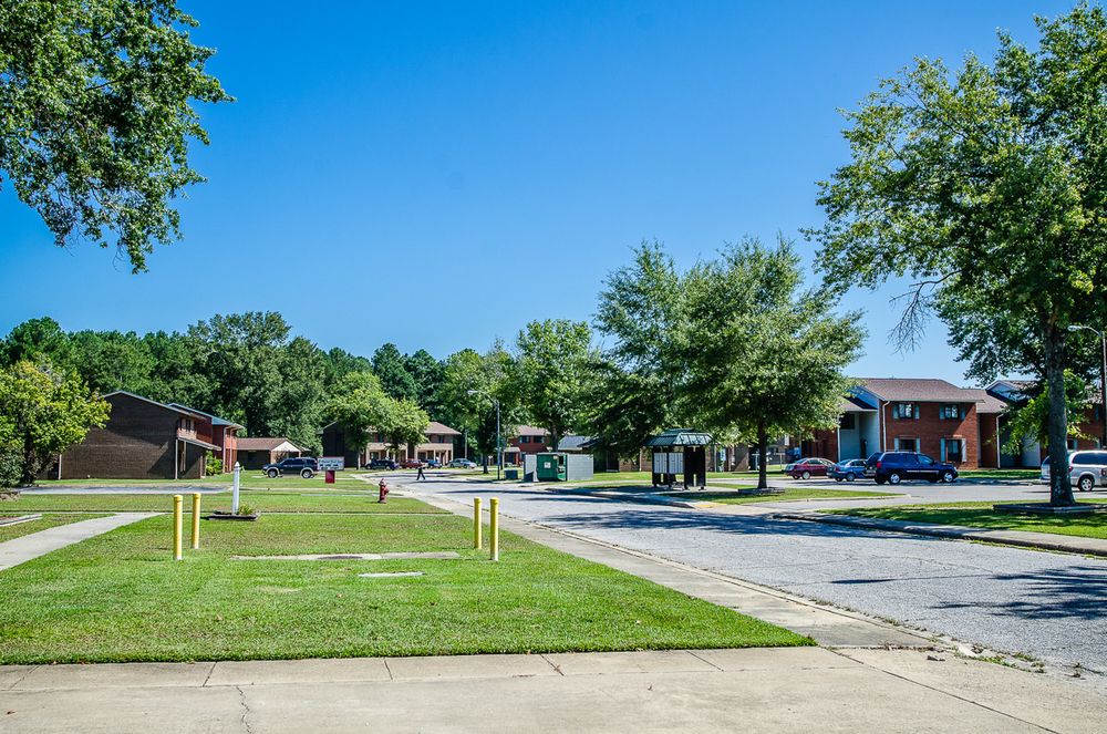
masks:
<instances>
[{"instance_id":1,"label":"second full sidewalk slab from left along the lawn's front edge","mask_svg":"<svg viewBox=\"0 0 1107 734\"><path fill-rule=\"evenodd\" d=\"M309 660L223 661L215 665L205 685L279 685L283 683L334 683L387 681L384 658Z\"/></svg>"}]
</instances>

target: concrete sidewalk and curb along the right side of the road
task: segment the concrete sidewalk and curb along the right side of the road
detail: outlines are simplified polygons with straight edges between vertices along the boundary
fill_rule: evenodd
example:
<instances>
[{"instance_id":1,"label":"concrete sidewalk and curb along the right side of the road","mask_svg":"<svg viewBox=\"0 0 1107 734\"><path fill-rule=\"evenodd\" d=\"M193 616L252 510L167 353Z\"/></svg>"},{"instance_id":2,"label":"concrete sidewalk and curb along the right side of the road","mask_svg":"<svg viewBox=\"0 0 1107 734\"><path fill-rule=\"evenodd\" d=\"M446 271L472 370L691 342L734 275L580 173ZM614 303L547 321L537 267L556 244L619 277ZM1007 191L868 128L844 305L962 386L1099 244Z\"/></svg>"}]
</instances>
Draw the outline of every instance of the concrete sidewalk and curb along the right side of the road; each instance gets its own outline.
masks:
<instances>
[{"instance_id":1,"label":"concrete sidewalk and curb along the right side of the road","mask_svg":"<svg viewBox=\"0 0 1107 734\"><path fill-rule=\"evenodd\" d=\"M950 540L976 540L995 542L1020 548L1037 550L1056 550L1082 556L1107 558L1107 540L1096 538L1078 538L1075 536L1055 535L1051 533L1027 533L1025 530L985 530L965 527L963 525L932 525L929 523L908 523L906 520L880 520L871 517L852 517L849 515L826 515L824 513L783 511L769 517L783 520L801 520L821 523L824 525L840 525L865 530L884 530L906 535L921 535L931 538Z\"/></svg>"}]
</instances>

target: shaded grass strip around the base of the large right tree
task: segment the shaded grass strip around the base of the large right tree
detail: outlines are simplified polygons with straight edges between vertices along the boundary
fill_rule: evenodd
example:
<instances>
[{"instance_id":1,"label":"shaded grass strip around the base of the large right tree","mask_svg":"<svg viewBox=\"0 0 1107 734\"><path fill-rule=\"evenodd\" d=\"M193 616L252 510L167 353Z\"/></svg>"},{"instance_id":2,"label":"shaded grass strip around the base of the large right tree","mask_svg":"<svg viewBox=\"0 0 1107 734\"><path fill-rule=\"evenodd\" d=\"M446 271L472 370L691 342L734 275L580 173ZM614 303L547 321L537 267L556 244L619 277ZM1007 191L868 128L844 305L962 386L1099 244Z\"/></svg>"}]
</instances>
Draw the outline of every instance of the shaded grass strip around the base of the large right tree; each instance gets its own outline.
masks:
<instances>
[{"instance_id":1,"label":"shaded grass strip around the base of the large right tree","mask_svg":"<svg viewBox=\"0 0 1107 734\"><path fill-rule=\"evenodd\" d=\"M1103 500L1107 502L1107 500ZM1028 530L1056 533L1082 538L1107 539L1107 516L1049 517L1043 515L1006 515L992 509L993 503L950 503L942 505L914 505L904 507L851 508L825 510L834 515L875 517L908 523L964 525L989 530Z\"/></svg>"}]
</instances>

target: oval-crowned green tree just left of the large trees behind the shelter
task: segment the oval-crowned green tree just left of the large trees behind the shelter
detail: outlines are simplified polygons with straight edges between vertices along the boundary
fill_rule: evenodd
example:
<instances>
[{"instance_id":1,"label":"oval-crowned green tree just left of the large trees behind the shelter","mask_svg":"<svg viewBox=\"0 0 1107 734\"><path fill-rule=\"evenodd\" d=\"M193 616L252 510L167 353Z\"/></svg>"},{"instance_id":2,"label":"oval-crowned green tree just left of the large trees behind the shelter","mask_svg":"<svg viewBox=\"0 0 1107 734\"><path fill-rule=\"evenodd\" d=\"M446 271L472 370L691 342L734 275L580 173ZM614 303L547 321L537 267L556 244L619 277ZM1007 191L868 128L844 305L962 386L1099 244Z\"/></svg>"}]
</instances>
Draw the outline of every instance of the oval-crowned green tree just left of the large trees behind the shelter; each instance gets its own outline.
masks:
<instances>
[{"instance_id":1,"label":"oval-crowned green tree just left of the large trees behind the shelter","mask_svg":"<svg viewBox=\"0 0 1107 734\"><path fill-rule=\"evenodd\" d=\"M579 430L592 375L592 331L583 321L531 321L515 342L515 379L524 410L550 432L556 449L567 431Z\"/></svg>"}]
</instances>

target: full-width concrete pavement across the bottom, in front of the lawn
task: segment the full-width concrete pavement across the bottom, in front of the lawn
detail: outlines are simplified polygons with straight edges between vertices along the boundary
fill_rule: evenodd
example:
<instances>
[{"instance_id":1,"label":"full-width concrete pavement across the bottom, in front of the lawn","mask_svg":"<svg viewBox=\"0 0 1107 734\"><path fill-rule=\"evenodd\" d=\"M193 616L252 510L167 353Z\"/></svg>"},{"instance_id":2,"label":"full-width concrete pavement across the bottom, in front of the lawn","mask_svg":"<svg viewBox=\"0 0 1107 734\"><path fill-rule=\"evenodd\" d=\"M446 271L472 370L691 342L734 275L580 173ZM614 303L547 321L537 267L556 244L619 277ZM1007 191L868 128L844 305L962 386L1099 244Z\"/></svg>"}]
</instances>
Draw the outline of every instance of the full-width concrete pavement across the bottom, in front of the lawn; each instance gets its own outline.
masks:
<instances>
[{"instance_id":1,"label":"full-width concrete pavement across the bottom, in front of the lawn","mask_svg":"<svg viewBox=\"0 0 1107 734\"><path fill-rule=\"evenodd\" d=\"M3 731L1073 732L1107 700L909 650L682 650L0 668Z\"/></svg>"}]
</instances>

